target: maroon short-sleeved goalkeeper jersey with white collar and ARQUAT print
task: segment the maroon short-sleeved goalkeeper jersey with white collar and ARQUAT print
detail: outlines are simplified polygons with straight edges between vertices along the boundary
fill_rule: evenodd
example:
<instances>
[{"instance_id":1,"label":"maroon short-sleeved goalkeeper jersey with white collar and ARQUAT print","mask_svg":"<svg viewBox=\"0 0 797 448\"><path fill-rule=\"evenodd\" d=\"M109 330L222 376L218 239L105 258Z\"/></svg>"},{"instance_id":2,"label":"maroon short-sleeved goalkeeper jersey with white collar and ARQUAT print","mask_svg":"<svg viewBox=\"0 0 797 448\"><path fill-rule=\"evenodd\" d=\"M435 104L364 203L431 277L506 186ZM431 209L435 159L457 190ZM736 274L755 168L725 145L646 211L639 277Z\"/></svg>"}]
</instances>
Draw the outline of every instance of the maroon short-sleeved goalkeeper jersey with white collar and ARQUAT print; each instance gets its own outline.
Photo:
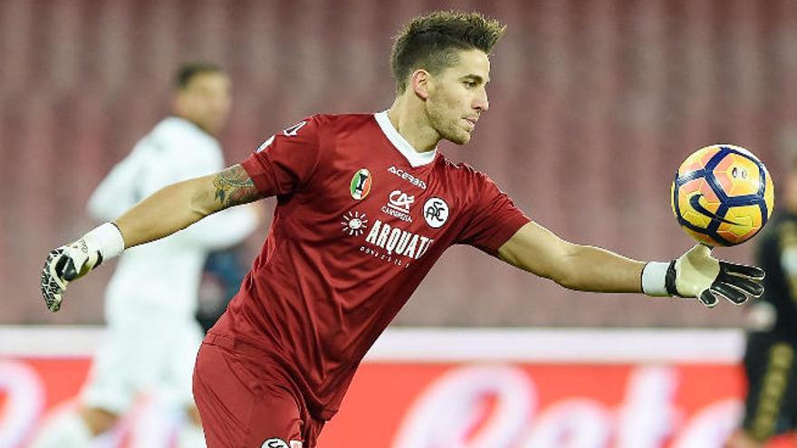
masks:
<instances>
[{"instance_id":1,"label":"maroon short-sleeved goalkeeper jersey with white collar and ARQUAT print","mask_svg":"<svg viewBox=\"0 0 797 448\"><path fill-rule=\"evenodd\" d=\"M211 333L262 348L323 420L447 247L495 255L529 222L484 174L416 152L385 112L304 119L243 167L277 196L274 223Z\"/></svg>"}]
</instances>

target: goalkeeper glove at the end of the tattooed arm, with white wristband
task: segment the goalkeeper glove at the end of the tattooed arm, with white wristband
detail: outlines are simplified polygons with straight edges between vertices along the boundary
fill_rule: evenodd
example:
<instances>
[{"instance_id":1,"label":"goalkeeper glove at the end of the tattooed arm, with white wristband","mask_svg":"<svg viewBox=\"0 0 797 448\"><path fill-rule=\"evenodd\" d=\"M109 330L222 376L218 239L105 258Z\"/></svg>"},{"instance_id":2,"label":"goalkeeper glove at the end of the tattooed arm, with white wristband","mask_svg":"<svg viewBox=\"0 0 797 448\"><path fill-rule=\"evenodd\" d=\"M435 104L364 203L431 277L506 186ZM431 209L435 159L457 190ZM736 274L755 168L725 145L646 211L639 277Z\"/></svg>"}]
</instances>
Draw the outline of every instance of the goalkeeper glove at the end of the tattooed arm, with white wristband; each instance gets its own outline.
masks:
<instances>
[{"instance_id":1,"label":"goalkeeper glove at the end of the tattooed arm, with white wristband","mask_svg":"<svg viewBox=\"0 0 797 448\"><path fill-rule=\"evenodd\" d=\"M47 255L42 270L42 296L47 308L61 309L63 293L70 281L77 280L92 269L119 255L124 240L114 224L106 223L71 244L53 249Z\"/></svg>"}]
</instances>

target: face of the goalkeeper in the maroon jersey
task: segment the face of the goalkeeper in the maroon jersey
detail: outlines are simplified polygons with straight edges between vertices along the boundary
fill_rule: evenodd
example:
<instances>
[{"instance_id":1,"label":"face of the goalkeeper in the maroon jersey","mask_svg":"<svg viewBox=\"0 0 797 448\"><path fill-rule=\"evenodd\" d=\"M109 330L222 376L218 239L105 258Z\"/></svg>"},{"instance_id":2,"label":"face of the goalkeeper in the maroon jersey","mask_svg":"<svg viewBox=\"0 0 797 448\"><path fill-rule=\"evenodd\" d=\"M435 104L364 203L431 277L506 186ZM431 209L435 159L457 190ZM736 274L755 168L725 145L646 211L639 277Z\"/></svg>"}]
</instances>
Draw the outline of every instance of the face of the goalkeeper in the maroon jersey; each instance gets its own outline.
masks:
<instances>
[{"instance_id":1,"label":"face of the goalkeeper in the maroon jersey","mask_svg":"<svg viewBox=\"0 0 797 448\"><path fill-rule=\"evenodd\" d=\"M489 108L485 87L490 81L490 61L481 50L463 50L458 56L456 65L433 77L426 108L441 138L464 145L479 115Z\"/></svg>"}]
</instances>

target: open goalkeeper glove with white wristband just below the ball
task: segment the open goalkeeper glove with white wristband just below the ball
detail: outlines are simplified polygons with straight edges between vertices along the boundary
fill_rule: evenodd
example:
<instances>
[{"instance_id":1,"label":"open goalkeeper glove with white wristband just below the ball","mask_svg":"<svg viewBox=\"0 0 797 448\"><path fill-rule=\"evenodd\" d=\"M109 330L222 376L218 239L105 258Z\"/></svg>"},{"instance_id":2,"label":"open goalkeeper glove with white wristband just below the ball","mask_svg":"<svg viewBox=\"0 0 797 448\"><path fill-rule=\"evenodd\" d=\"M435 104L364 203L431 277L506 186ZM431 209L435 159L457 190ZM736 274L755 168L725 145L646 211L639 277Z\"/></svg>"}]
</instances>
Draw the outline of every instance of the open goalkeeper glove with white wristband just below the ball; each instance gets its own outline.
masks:
<instances>
[{"instance_id":1,"label":"open goalkeeper glove with white wristband just below the ball","mask_svg":"<svg viewBox=\"0 0 797 448\"><path fill-rule=\"evenodd\" d=\"M642 270L642 291L695 297L708 308L720 299L741 305L763 294L763 275L761 268L716 260L708 246L697 244L672 262L648 262Z\"/></svg>"}]
</instances>

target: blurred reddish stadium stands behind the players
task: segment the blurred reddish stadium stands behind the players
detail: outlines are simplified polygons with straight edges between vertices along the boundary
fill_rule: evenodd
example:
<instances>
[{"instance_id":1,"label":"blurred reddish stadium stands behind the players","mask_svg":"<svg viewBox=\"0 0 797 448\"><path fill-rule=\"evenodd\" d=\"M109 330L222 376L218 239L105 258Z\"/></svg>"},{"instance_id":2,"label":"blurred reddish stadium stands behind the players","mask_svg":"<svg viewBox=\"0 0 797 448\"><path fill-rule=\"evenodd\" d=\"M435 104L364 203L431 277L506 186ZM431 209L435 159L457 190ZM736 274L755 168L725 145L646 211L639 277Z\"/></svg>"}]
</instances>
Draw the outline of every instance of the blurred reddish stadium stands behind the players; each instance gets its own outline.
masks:
<instances>
[{"instance_id":1,"label":"blurred reddish stadium stands behind the players","mask_svg":"<svg viewBox=\"0 0 797 448\"><path fill-rule=\"evenodd\" d=\"M313 113L387 109L392 37L449 8L508 27L490 111L466 147L442 151L573 242L669 260L692 244L669 206L688 154L749 148L777 187L797 149L792 0L0 0L0 324L102 323L112 263L73 284L58 314L43 307L39 272L50 249L97 224L85 212L91 191L168 114L180 64L229 72L231 165ZM266 231L246 243L247 262ZM754 243L715 254L752 262ZM397 324L735 329L743 313L566 291L455 247Z\"/></svg>"}]
</instances>

